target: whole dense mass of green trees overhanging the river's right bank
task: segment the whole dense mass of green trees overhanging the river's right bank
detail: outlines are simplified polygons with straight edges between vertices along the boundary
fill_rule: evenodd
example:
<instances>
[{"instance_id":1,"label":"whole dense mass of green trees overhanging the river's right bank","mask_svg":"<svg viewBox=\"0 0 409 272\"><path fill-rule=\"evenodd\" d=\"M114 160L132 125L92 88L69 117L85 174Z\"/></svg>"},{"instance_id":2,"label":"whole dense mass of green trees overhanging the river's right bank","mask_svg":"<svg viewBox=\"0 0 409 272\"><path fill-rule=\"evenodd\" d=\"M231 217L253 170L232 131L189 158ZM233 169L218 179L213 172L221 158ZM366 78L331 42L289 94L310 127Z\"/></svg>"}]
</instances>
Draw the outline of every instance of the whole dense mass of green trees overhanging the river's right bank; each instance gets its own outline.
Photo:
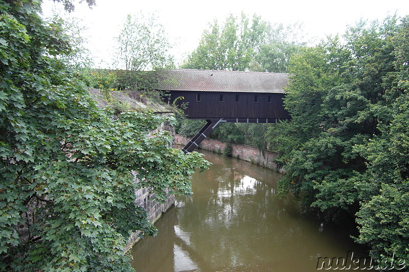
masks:
<instances>
[{"instance_id":1,"label":"whole dense mass of green trees overhanging the river's right bank","mask_svg":"<svg viewBox=\"0 0 409 272\"><path fill-rule=\"evenodd\" d=\"M267 135L287 170L281 192L327 219L357 218L357 241L378 262L408 258L407 29L407 18L362 20L344 41L294 56L284 101L292 119Z\"/></svg>"}]
</instances>

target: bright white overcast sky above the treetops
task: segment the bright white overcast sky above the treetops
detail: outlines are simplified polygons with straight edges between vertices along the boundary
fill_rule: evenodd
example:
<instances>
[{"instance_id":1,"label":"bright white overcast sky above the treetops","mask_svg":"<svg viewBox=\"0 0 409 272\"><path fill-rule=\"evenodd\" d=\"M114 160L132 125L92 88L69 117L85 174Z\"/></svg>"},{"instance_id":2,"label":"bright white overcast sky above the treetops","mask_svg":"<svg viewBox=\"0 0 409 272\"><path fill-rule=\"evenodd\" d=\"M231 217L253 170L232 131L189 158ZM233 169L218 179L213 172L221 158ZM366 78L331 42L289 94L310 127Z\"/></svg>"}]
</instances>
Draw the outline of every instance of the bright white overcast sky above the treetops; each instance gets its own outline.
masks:
<instances>
[{"instance_id":1,"label":"bright white overcast sky above the treetops","mask_svg":"<svg viewBox=\"0 0 409 272\"><path fill-rule=\"evenodd\" d=\"M96 56L96 65L109 68L113 51L113 37L117 36L127 14L152 13L165 27L170 40L176 43L172 53L177 64L198 45L203 30L215 18L219 23L233 13L248 16L254 13L271 23L302 22L309 37L322 39L330 34L343 34L348 24L360 18L383 19L395 12L409 15L409 0L96 0L89 9L77 4L74 16L83 19L89 27L90 50ZM44 0L44 15L49 14L51 0ZM104 60L101 62L100 60Z\"/></svg>"}]
</instances>

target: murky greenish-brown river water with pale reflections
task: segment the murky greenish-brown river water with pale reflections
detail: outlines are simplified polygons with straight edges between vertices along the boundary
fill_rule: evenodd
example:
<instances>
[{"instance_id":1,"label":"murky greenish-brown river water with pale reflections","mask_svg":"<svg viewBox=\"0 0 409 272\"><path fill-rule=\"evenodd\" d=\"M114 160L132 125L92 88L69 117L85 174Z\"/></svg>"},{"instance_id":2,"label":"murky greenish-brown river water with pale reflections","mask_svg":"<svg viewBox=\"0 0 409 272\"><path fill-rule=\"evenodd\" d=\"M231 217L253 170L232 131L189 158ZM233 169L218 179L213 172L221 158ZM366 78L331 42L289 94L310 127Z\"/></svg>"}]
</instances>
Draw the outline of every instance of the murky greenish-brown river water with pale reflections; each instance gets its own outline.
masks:
<instances>
[{"instance_id":1,"label":"murky greenish-brown river water with pale reflections","mask_svg":"<svg viewBox=\"0 0 409 272\"><path fill-rule=\"evenodd\" d=\"M346 232L301 216L291 196L275 196L280 174L220 155L192 179L156 222L157 237L137 243L133 267L166 271L316 271L319 257L367 257Z\"/></svg>"}]
</instances>

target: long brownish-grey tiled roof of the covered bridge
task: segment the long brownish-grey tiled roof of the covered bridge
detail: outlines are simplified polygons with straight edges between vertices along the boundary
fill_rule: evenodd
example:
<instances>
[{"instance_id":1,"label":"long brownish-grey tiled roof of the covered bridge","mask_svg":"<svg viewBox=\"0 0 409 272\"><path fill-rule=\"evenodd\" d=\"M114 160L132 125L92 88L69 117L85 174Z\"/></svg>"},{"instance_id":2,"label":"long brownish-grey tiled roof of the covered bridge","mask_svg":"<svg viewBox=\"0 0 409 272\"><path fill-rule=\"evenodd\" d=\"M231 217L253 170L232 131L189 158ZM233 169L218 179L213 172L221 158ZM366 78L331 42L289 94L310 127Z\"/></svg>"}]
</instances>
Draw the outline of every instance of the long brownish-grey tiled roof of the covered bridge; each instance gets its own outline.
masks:
<instances>
[{"instance_id":1,"label":"long brownish-grey tiled roof of the covered bridge","mask_svg":"<svg viewBox=\"0 0 409 272\"><path fill-rule=\"evenodd\" d=\"M284 93L288 74L174 69L161 71L159 79L160 90Z\"/></svg>"}]
</instances>

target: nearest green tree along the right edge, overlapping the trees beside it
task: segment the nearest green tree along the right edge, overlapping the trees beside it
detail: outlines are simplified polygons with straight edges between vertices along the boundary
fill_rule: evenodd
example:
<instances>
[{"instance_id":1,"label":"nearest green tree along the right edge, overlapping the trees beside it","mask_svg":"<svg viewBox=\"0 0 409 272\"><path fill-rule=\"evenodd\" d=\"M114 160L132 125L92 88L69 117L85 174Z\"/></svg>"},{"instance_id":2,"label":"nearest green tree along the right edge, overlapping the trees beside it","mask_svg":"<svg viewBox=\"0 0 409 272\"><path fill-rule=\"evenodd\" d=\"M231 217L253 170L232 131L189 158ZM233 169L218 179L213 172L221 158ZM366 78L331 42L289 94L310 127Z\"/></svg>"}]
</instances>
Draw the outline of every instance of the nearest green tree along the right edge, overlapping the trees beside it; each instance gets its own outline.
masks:
<instances>
[{"instance_id":1,"label":"nearest green tree along the right edge, overlapping the trees beside it","mask_svg":"<svg viewBox=\"0 0 409 272\"><path fill-rule=\"evenodd\" d=\"M395 72L388 82L384 103L373 107L380 133L356 150L367 159L365 179L357 186L361 209L357 213L357 241L371 246L376 259L409 259L409 17L402 19L391 38Z\"/></svg>"}]
</instances>

